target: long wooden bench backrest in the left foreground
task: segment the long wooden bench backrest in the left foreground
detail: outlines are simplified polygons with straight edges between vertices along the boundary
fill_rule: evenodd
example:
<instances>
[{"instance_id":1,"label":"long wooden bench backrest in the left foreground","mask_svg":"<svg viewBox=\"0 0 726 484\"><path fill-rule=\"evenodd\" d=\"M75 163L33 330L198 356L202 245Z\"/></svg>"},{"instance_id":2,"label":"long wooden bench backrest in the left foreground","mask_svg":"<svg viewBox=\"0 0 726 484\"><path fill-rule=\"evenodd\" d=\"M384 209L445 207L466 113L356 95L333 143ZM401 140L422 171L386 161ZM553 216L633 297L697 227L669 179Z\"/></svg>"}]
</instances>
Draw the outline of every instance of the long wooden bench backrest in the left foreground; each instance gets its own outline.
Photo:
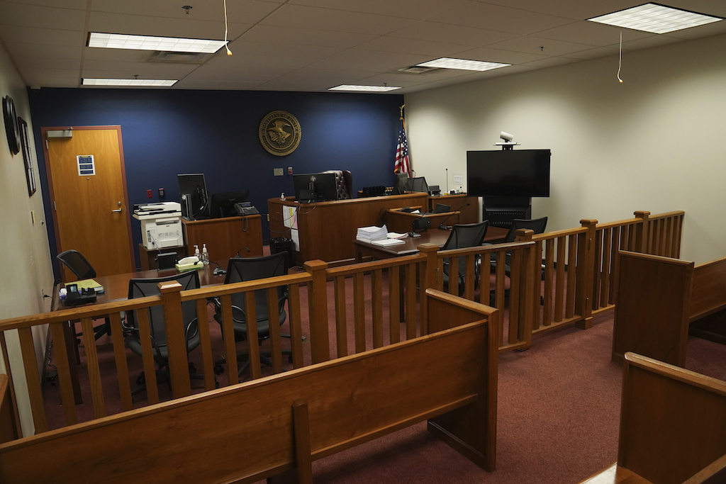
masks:
<instances>
[{"instance_id":1,"label":"long wooden bench backrest in the left foreground","mask_svg":"<svg viewBox=\"0 0 726 484\"><path fill-rule=\"evenodd\" d=\"M474 319L476 311L470 316ZM367 353L3 444L0 481L254 482L293 467L295 401L308 406L312 459L485 396L482 400L493 397L496 403L496 377L494 395L484 395L491 386L483 386L491 374L489 348L496 358L496 337L489 337L485 318L478 319ZM495 415L492 436L481 437L486 442L494 442ZM485 417L491 418L486 412ZM494 456L486 457L493 470Z\"/></svg>"}]
</instances>

